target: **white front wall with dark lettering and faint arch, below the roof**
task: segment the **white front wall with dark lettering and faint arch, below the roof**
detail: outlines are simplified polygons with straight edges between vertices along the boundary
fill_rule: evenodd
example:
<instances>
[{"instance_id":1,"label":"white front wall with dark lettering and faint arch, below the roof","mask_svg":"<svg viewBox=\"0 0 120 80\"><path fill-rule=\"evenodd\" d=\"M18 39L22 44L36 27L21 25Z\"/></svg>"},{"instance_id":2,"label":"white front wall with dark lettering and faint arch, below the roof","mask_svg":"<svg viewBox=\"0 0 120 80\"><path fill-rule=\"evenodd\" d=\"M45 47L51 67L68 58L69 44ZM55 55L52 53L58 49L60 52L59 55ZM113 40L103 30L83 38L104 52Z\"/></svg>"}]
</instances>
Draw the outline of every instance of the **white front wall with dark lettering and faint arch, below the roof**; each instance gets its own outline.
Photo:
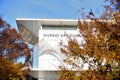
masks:
<instances>
[{"instance_id":1,"label":"white front wall with dark lettering and faint arch, below the roof","mask_svg":"<svg viewBox=\"0 0 120 80\"><path fill-rule=\"evenodd\" d=\"M60 53L60 42L67 44L67 37L77 38L78 30L39 30L39 69L57 70L64 56Z\"/></svg>"}]
</instances>

